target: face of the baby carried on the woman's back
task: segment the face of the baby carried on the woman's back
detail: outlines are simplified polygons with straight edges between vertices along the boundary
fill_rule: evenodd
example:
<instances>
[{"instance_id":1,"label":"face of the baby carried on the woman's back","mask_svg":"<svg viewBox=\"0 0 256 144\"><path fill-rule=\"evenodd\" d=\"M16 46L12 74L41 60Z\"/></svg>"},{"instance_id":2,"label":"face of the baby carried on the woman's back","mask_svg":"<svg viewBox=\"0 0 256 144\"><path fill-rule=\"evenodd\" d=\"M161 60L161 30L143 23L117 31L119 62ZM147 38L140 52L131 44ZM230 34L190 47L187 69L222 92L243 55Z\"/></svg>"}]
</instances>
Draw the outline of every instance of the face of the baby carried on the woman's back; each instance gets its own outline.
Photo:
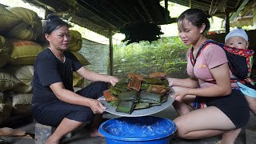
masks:
<instances>
[{"instance_id":1,"label":"face of the baby carried on the woman's back","mask_svg":"<svg viewBox=\"0 0 256 144\"><path fill-rule=\"evenodd\" d=\"M248 48L248 42L242 37L234 36L229 39L227 39L226 46L230 47L236 47L238 49L247 49Z\"/></svg>"}]
</instances>

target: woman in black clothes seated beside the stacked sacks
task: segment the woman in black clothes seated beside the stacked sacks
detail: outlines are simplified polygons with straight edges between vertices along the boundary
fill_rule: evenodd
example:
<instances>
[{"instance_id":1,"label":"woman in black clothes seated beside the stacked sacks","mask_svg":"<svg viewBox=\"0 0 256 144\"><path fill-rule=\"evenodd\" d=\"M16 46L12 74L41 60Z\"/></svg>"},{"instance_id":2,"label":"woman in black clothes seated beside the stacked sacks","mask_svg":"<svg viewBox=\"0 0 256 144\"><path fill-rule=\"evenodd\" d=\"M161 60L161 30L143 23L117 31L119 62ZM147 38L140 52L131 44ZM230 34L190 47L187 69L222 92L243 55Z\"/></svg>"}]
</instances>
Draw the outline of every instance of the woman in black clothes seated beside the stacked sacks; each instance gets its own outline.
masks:
<instances>
[{"instance_id":1,"label":"woman in black clothes seated beside the stacked sacks","mask_svg":"<svg viewBox=\"0 0 256 144\"><path fill-rule=\"evenodd\" d=\"M57 127L46 143L59 143L65 134L90 121L94 114L104 112L106 107L97 99L108 89L106 82L115 85L118 78L82 66L74 54L66 51L70 42L68 23L52 14L47 19L43 34L49 47L38 54L34 63L32 111L36 121ZM93 82L74 93L73 71ZM101 136L100 116L94 117L90 136Z\"/></svg>"}]
</instances>

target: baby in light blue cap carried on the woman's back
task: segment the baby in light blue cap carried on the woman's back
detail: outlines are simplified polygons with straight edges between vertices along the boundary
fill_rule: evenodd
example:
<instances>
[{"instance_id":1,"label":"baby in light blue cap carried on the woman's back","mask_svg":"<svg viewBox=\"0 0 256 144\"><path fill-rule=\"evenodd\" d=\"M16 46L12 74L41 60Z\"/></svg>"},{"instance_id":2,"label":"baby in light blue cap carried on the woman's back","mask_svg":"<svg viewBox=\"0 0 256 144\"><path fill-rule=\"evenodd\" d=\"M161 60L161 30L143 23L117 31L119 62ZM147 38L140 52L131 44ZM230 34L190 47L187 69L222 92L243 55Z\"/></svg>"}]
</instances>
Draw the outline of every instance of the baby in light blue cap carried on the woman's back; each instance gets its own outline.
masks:
<instances>
[{"instance_id":1,"label":"baby in light blue cap carried on the woman's back","mask_svg":"<svg viewBox=\"0 0 256 144\"><path fill-rule=\"evenodd\" d=\"M234 29L226 35L225 45L230 47L236 47L238 49L247 49L249 46L248 35L245 30ZM248 86L243 85L241 82L237 82L242 94L245 95L246 100L250 106L250 110L256 114L256 90L251 89Z\"/></svg>"}]
</instances>

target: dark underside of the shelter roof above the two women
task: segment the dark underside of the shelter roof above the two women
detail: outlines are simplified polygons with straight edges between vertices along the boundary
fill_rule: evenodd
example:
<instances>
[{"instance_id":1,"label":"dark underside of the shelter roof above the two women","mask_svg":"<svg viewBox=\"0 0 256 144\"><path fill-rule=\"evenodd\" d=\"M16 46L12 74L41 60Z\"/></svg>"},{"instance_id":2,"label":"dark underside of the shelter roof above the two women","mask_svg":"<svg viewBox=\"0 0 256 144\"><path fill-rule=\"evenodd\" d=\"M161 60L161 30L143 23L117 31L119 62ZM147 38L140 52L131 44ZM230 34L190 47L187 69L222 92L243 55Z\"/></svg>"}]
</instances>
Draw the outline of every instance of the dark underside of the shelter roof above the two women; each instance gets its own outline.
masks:
<instances>
[{"instance_id":1,"label":"dark underside of the shelter roof above the two women","mask_svg":"<svg viewBox=\"0 0 256 144\"><path fill-rule=\"evenodd\" d=\"M23 0L45 7L48 12L55 12L71 18L107 38L117 33L123 26L143 24L169 24L175 22L169 11L160 5L160 0ZM167 1L165 1L167 2ZM225 18L225 11L236 12L242 4L250 0L169 0L182 6L205 10L211 15ZM255 0L253 0L255 2ZM110 34L110 30L112 33Z\"/></svg>"}]
</instances>

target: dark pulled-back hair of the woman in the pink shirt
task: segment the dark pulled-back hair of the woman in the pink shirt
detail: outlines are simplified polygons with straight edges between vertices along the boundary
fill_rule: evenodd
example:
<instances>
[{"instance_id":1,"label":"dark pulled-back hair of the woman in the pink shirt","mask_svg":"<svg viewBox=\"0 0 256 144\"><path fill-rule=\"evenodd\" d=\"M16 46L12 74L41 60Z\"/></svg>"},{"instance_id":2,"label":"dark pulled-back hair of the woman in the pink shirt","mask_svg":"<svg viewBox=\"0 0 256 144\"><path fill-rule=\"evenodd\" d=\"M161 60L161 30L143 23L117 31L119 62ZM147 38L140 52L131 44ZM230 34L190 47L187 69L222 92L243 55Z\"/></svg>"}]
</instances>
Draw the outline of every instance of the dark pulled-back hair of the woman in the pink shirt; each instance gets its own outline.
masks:
<instances>
[{"instance_id":1,"label":"dark pulled-back hair of the woman in the pink shirt","mask_svg":"<svg viewBox=\"0 0 256 144\"><path fill-rule=\"evenodd\" d=\"M183 28L182 21L184 19L187 19L189 22L191 22L194 26L197 26L198 28L200 28L204 23L206 25L206 28L203 31L203 33L206 33L206 31L210 30L210 22L208 18L211 18L211 16L206 12L204 12L203 10L199 10L199 9L185 10L177 18L178 27Z\"/></svg>"}]
</instances>

